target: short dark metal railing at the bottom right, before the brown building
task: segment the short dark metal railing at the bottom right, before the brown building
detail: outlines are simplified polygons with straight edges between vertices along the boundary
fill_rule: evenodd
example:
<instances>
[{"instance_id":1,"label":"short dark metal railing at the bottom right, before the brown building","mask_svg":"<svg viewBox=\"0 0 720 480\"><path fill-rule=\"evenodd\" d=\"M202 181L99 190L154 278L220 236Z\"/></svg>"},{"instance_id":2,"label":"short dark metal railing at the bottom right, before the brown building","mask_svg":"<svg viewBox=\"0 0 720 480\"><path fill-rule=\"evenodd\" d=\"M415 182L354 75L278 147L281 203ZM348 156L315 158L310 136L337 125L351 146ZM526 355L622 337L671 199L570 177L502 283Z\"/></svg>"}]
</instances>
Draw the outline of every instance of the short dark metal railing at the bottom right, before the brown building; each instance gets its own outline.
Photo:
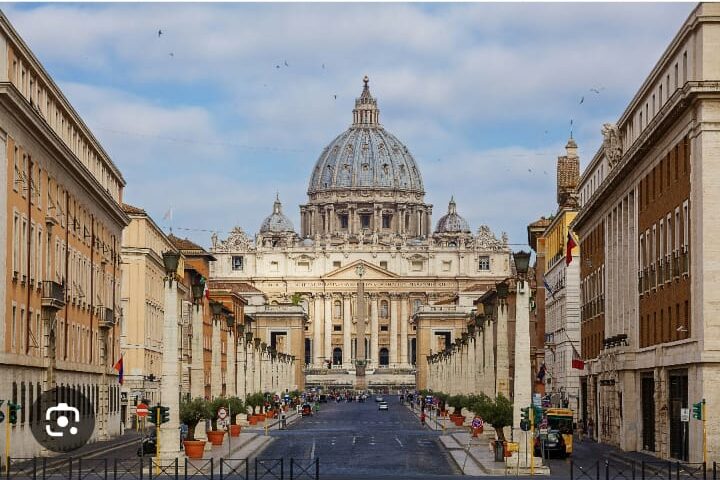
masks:
<instances>
[{"instance_id":1,"label":"short dark metal railing at the bottom right, before the brown building","mask_svg":"<svg viewBox=\"0 0 720 480\"><path fill-rule=\"evenodd\" d=\"M652 461L621 463L599 460L579 464L570 461L570 480L720 480L717 462L683 463Z\"/></svg>"}]
</instances>

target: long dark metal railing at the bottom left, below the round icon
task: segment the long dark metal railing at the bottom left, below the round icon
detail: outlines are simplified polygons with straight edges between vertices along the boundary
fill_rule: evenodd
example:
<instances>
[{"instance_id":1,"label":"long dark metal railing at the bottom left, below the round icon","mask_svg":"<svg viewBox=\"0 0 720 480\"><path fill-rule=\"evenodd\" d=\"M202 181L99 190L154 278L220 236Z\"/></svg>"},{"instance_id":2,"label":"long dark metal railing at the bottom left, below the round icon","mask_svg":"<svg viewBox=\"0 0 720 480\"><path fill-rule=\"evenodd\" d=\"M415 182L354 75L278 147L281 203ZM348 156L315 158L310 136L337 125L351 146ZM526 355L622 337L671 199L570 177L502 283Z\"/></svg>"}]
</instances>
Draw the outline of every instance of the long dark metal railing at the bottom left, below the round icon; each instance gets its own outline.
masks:
<instances>
[{"instance_id":1,"label":"long dark metal railing at the bottom left, below the round icon","mask_svg":"<svg viewBox=\"0 0 720 480\"><path fill-rule=\"evenodd\" d=\"M6 480L319 480L320 459L9 458Z\"/></svg>"}]
</instances>

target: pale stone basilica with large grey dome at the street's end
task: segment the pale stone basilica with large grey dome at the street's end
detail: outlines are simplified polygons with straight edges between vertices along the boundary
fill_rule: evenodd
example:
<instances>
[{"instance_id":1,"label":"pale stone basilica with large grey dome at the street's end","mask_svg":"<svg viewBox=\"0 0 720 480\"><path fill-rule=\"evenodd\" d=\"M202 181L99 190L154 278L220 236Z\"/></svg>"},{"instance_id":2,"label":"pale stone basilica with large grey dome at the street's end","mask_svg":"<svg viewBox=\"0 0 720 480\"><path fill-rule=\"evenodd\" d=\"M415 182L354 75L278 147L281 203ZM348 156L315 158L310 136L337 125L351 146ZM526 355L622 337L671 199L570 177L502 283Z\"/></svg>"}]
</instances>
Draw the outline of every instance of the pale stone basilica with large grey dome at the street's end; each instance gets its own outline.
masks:
<instances>
[{"instance_id":1,"label":"pale stone basilica with large grey dome at the street's end","mask_svg":"<svg viewBox=\"0 0 720 480\"><path fill-rule=\"evenodd\" d=\"M254 238L235 227L212 239L211 284L261 292L246 328L300 360L307 385L357 387L361 360L367 387L414 386L426 357L461 336L473 301L511 275L506 235L472 233L453 199L433 228L418 165L380 124L368 84L311 171L299 232L276 198ZM419 351L423 312L433 323Z\"/></svg>"}]
</instances>

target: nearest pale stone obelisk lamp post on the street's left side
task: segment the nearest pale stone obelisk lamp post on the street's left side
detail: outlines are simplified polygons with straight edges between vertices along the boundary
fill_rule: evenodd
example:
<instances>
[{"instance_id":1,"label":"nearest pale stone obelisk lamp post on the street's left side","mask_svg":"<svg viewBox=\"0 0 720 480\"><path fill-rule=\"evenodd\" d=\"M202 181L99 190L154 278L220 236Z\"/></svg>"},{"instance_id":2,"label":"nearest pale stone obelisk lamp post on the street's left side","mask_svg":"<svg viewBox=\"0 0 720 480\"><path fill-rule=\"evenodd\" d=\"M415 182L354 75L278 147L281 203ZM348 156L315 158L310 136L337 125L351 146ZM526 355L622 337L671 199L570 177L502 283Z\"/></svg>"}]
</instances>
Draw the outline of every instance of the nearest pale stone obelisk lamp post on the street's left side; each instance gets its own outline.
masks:
<instances>
[{"instance_id":1,"label":"nearest pale stone obelisk lamp post on the street's left side","mask_svg":"<svg viewBox=\"0 0 720 480\"><path fill-rule=\"evenodd\" d=\"M163 315L163 356L160 378L159 402L169 408L169 421L157 426L158 454L161 459L174 459L184 454L180 451L177 432L180 428L180 373L178 358L178 291L177 269L180 253L163 253L165 267L165 310Z\"/></svg>"}]
</instances>

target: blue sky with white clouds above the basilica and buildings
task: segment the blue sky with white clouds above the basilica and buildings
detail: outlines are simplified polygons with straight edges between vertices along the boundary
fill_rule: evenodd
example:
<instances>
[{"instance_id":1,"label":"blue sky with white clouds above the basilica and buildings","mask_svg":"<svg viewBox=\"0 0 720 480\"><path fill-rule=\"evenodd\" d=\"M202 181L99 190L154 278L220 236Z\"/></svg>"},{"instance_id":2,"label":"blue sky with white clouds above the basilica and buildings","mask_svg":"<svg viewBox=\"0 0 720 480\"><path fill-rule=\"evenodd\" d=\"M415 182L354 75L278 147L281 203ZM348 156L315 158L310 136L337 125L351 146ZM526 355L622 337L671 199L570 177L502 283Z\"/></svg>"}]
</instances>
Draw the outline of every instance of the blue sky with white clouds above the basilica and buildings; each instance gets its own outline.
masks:
<instances>
[{"instance_id":1,"label":"blue sky with white clouds above the basilica and buildings","mask_svg":"<svg viewBox=\"0 0 720 480\"><path fill-rule=\"evenodd\" d=\"M310 174L362 78L434 205L473 231L557 209L694 3L53 3L3 12L119 167L126 203L210 245L276 193L299 230ZM172 219L166 218L172 209Z\"/></svg>"}]
</instances>

